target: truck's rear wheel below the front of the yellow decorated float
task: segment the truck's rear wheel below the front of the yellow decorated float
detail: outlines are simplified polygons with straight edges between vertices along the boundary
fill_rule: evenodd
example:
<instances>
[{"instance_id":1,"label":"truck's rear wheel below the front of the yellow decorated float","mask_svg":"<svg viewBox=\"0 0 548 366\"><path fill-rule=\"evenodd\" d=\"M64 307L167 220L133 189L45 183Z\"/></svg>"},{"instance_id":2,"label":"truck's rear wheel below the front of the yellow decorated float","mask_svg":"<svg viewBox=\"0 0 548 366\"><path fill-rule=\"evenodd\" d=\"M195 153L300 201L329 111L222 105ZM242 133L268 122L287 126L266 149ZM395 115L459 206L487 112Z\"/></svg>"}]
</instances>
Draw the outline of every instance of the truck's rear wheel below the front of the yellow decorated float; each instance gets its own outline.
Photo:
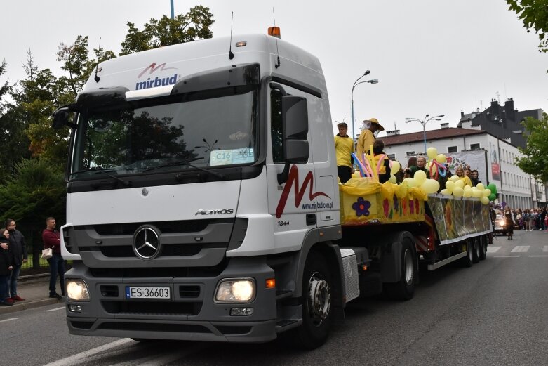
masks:
<instances>
[{"instance_id":1,"label":"truck's rear wheel below the front of the yellow decorated float","mask_svg":"<svg viewBox=\"0 0 548 366\"><path fill-rule=\"evenodd\" d=\"M408 240L401 242L401 278L398 282L385 283L385 294L393 300L410 300L417 284L417 254Z\"/></svg>"}]
</instances>

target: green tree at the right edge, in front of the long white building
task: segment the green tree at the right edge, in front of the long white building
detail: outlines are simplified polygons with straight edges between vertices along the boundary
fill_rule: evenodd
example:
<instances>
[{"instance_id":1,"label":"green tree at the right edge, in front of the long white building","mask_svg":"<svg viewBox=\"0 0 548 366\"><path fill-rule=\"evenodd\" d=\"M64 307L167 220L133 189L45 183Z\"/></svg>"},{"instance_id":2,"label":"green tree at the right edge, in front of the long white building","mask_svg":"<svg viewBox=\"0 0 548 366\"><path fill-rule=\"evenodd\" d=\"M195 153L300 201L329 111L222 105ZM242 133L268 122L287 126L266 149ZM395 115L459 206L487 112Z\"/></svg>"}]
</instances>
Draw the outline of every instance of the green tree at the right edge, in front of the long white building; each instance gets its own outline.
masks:
<instances>
[{"instance_id":1,"label":"green tree at the right edge, in front of the long white building","mask_svg":"<svg viewBox=\"0 0 548 366\"><path fill-rule=\"evenodd\" d=\"M526 117L523 126L529 132L526 148L519 148L525 157L517 159L517 166L542 182L548 181L548 115L542 120Z\"/></svg>"}]
</instances>

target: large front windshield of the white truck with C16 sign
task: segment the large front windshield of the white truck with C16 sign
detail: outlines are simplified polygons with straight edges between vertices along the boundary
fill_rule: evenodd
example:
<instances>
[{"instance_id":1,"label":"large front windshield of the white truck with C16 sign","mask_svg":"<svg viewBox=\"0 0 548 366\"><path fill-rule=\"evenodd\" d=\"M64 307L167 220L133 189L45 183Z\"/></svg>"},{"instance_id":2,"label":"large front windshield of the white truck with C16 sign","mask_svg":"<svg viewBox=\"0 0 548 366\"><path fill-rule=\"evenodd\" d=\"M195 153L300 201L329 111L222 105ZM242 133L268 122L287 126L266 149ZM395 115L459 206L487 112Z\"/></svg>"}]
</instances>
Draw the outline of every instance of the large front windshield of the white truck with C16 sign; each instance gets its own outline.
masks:
<instances>
[{"instance_id":1,"label":"large front windshield of the white truck with C16 sign","mask_svg":"<svg viewBox=\"0 0 548 366\"><path fill-rule=\"evenodd\" d=\"M258 100L249 86L83 112L71 179L255 162ZM192 164L186 164L192 162Z\"/></svg>"}]
</instances>

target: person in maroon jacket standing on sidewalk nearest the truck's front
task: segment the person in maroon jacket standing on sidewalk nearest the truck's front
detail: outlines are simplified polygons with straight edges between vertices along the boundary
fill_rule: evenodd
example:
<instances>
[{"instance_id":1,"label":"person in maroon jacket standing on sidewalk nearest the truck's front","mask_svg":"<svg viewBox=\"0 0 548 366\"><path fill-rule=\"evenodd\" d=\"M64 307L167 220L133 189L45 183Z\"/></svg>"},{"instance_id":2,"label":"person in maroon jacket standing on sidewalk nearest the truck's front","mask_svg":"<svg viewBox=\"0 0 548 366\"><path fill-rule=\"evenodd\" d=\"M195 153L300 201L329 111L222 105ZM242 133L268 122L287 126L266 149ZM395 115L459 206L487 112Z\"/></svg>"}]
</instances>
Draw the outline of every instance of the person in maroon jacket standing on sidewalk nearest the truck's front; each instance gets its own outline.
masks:
<instances>
[{"instance_id":1,"label":"person in maroon jacket standing on sidewalk nearest the truck's front","mask_svg":"<svg viewBox=\"0 0 548 366\"><path fill-rule=\"evenodd\" d=\"M62 296L65 296L65 260L61 256L61 235L55 230L55 225L55 218L46 218L46 228L42 230L42 241L44 242L44 249L52 249L52 256L48 259L50 265L49 296L60 300ZM55 291L57 275L59 275L61 294Z\"/></svg>"}]
</instances>

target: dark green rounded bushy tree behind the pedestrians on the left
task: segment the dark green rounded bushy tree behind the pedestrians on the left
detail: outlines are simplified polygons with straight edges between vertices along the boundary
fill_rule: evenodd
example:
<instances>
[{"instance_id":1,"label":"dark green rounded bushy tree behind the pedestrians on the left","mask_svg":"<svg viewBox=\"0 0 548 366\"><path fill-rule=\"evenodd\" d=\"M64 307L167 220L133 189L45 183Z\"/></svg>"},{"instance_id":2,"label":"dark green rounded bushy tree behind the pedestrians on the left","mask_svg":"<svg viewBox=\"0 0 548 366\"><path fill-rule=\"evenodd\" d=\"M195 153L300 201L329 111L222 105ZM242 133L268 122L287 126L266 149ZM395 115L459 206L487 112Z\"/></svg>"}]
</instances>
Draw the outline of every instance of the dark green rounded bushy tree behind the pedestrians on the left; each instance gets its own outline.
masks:
<instances>
[{"instance_id":1,"label":"dark green rounded bushy tree behind the pedestrians on the left","mask_svg":"<svg viewBox=\"0 0 548 366\"><path fill-rule=\"evenodd\" d=\"M41 249L41 230L46 217L65 218L65 184L60 166L41 159L22 160L15 174L0 185L2 221L13 218L36 254ZM60 226L60 225L59 225Z\"/></svg>"}]
</instances>

